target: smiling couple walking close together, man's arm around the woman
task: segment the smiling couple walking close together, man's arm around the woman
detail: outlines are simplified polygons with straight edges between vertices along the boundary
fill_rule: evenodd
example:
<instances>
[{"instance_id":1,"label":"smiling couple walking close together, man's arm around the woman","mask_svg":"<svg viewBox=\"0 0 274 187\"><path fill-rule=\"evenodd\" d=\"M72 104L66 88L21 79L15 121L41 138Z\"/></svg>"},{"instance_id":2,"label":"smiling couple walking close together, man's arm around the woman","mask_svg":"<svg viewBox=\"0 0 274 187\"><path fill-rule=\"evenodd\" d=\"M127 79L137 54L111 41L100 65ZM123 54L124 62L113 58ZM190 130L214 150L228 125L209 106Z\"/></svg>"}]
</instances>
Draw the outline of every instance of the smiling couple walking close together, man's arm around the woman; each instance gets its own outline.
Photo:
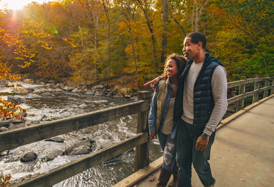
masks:
<instances>
[{"instance_id":1,"label":"smiling couple walking close together, man's arm around the woman","mask_svg":"<svg viewBox=\"0 0 274 187\"><path fill-rule=\"evenodd\" d=\"M200 181L213 187L210 150L216 127L227 109L226 70L205 53L206 38L194 32L186 36L183 53L166 59L162 77L151 84L149 128L152 139L158 137L164 162L158 187L191 187L192 163ZM161 80L164 79L164 80ZM155 88L156 87L156 88Z\"/></svg>"}]
</instances>

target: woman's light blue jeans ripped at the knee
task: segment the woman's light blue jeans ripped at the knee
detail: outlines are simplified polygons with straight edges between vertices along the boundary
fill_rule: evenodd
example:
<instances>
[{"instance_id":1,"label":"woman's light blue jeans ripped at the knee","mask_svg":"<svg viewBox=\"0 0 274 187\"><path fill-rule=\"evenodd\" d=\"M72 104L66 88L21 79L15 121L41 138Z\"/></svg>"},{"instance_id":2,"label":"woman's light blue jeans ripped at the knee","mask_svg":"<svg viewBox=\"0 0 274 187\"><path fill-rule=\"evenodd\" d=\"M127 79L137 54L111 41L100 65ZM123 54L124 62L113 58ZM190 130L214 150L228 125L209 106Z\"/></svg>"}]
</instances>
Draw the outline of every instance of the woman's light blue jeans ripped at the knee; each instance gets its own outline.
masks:
<instances>
[{"instance_id":1,"label":"woman's light blue jeans ripped at the knee","mask_svg":"<svg viewBox=\"0 0 274 187\"><path fill-rule=\"evenodd\" d=\"M166 135L161 131L157 134L162 150L164 151L164 163L162 169L172 171L176 159L176 142L177 136L171 138L171 134Z\"/></svg>"}]
</instances>

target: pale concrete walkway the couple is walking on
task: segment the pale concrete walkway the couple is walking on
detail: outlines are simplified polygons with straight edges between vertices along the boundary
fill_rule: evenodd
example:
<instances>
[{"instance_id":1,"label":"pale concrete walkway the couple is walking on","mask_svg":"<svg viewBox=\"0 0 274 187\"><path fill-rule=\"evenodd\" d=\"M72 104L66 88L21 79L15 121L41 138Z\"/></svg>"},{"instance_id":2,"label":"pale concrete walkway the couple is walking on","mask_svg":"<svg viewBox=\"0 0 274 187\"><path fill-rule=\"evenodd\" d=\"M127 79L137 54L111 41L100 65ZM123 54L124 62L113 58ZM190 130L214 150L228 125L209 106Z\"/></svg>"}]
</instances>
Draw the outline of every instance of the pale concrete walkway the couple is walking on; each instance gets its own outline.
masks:
<instances>
[{"instance_id":1,"label":"pale concrete walkway the couple is walking on","mask_svg":"<svg viewBox=\"0 0 274 187\"><path fill-rule=\"evenodd\" d=\"M215 187L274 186L274 97L217 131L209 163ZM159 171L137 186L156 186L158 176ZM192 185L203 186L193 168Z\"/></svg>"}]
</instances>

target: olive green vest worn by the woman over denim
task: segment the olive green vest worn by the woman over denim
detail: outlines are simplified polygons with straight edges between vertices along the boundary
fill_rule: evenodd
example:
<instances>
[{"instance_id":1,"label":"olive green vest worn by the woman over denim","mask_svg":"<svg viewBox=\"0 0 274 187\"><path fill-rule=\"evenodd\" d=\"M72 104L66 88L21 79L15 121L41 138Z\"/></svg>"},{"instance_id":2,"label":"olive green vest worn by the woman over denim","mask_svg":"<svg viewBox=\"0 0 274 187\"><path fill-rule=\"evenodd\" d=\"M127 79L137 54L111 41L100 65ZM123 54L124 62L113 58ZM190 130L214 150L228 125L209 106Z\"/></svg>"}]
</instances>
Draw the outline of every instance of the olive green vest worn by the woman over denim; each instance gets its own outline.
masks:
<instances>
[{"instance_id":1,"label":"olive green vest worn by the woman over denim","mask_svg":"<svg viewBox=\"0 0 274 187\"><path fill-rule=\"evenodd\" d=\"M157 96L157 112L156 112L156 121L155 121L156 135L159 130L166 97L168 96L169 84L170 84L169 79L167 79L167 80L160 81L158 85L159 90L158 90L158 96Z\"/></svg>"}]
</instances>

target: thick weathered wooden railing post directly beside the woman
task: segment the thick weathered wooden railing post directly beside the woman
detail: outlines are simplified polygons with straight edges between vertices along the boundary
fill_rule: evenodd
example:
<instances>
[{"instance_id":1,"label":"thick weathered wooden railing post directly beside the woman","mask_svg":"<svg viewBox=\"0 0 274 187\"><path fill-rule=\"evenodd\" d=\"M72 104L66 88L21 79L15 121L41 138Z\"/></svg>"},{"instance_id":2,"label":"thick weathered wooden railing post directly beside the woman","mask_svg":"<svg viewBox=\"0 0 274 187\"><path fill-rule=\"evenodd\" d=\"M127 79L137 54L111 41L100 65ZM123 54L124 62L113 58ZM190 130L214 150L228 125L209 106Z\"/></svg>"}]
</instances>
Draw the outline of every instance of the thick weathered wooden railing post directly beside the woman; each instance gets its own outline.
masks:
<instances>
[{"instance_id":1,"label":"thick weathered wooden railing post directly beside the woman","mask_svg":"<svg viewBox=\"0 0 274 187\"><path fill-rule=\"evenodd\" d=\"M151 99L150 91L139 91L138 101ZM150 106L150 105L149 105ZM137 134L145 131L149 131L148 124L148 110L144 112L138 112L137 116ZM135 172L149 165L149 142L136 147L135 156Z\"/></svg>"}]
</instances>

